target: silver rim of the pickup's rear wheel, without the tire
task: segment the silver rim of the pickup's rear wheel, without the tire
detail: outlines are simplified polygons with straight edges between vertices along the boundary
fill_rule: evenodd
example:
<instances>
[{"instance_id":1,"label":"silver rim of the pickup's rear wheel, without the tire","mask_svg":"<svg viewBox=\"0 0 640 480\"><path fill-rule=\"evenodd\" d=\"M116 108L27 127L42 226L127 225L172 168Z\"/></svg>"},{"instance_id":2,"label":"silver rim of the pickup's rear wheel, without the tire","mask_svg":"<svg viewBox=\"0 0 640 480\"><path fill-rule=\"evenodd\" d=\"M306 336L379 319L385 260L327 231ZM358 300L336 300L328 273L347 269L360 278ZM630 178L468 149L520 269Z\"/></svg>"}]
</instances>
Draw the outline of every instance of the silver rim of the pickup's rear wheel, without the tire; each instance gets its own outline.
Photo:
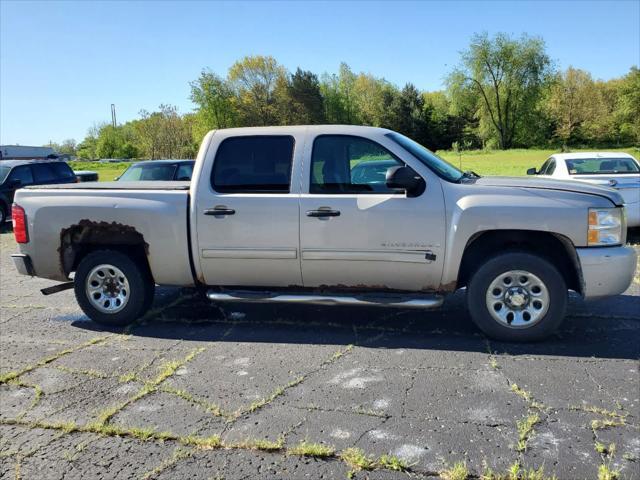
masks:
<instances>
[{"instance_id":1,"label":"silver rim of the pickup's rear wheel, without the tire","mask_svg":"<svg viewBox=\"0 0 640 480\"><path fill-rule=\"evenodd\" d=\"M129 281L113 265L94 267L87 275L85 290L92 305L103 313L117 313L129 301Z\"/></svg>"}]
</instances>

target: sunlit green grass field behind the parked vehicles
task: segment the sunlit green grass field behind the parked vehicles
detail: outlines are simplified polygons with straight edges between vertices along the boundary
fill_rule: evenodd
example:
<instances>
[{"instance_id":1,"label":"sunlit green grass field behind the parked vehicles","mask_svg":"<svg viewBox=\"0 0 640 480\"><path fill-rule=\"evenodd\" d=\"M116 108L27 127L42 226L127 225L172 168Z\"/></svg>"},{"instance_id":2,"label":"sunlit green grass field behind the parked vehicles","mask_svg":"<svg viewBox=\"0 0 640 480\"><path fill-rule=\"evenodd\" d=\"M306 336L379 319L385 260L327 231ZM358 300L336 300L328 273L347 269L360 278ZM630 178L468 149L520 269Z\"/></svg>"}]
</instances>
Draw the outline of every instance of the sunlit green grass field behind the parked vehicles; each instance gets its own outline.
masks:
<instances>
[{"instance_id":1,"label":"sunlit green grass field behind the parked vehicles","mask_svg":"<svg viewBox=\"0 0 640 480\"><path fill-rule=\"evenodd\" d=\"M626 152L636 158L640 157L640 149L609 148L607 151ZM452 151L437 152L442 158L462 170L473 170L480 175L526 175L531 167L540 168L543 162L559 150L469 150L461 155ZM588 151L588 150L574 150ZM113 180L122 174L132 162L98 163L98 162L69 162L74 170L95 170L100 175L101 182Z\"/></svg>"}]
</instances>

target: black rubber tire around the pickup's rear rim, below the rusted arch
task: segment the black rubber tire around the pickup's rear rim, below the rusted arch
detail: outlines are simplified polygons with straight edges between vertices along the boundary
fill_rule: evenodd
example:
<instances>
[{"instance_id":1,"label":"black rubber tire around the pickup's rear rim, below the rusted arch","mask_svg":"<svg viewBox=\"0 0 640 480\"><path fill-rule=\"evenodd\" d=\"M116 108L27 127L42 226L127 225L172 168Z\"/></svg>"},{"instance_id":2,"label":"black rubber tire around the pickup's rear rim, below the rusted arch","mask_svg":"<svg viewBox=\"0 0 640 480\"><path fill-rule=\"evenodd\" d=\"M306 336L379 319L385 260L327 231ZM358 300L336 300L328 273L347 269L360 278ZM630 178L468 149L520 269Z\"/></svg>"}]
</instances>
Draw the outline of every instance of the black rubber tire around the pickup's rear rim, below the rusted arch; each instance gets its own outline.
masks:
<instances>
[{"instance_id":1,"label":"black rubber tire around the pickup's rear rim, below the rusted arch","mask_svg":"<svg viewBox=\"0 0 640 480\"><path fill-rule=\"evenodd\" d=\"M119 269L128 282L127 301L121 310L100 311L87 292L87 280L92 270L100 265L112 265ZM82 259L74 278L76 300L82 311L94 322L109 326L128 325L143 316L155 293L155 284L146 265L115 250L97 250Z\"/></svg>"}]
</instances>

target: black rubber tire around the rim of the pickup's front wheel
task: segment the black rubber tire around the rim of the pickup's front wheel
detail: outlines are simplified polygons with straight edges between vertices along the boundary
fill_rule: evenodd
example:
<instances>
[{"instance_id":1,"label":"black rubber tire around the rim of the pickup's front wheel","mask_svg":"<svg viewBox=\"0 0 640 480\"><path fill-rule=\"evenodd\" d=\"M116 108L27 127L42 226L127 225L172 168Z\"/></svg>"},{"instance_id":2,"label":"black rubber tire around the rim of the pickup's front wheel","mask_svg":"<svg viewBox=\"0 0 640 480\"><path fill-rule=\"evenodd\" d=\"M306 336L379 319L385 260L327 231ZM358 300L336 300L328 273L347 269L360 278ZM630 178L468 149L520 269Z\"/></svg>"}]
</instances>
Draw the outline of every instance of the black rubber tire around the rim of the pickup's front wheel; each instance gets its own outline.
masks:
<instances>
[{"instance_id":1,"label":"black rubber tire around the rim of the pickup's front wheel","mask_svg":"<svg viewBox=\"0 0 640 480\"><path fill-rule=\"evenodd\" d=\"M490 311L488 306L490 301L489 288L492 282L501 275L512 271L530 272L538 277L546 288L546 312L541 314L530 326L524 325L517 328L511 326L511 323L508 325L504 322L501 323L494 318L494 313ZM518 286L514 285L514 287ZM508 286L504 288L505 292L509 289ZM507 252L490 258L475 271L467 285L467 306L474 323L488 337L507 342L531 342L548 337L560 326L567 308L567 293L564 277L548 260L531 253ZM527 298L528 302L531 302L534 297L527 295ZM511 311L503 297L500 297L496 302L497 308L500 308L500 304L504 302L502 303L506 308L504 311ZM530 308L533 309L533 306ZM523 310L520 312L522 313ZM496 315L498 314L496 313ZM513 315L511 318L514 318Z\"/></svg>"}]
</instances>

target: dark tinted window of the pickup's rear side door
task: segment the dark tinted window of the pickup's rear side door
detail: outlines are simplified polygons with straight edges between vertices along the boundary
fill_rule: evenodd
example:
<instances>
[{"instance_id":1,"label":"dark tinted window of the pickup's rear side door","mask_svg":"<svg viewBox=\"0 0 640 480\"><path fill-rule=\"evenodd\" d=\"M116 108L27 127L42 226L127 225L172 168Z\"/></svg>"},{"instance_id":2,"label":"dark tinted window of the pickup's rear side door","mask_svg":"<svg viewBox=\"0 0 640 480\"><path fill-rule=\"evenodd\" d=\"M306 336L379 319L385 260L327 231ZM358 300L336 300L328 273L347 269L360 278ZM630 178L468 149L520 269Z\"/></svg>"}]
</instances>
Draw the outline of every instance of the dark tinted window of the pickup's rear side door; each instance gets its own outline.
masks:
<instances>
[{"instance_id":1,"label":"dark tinted window of the pickup's rear side door","mask_svg":"<svg viewBox=\"0 0 640 480\"><path fill-rule=\"evenodd\" d=\"M214 159L211 187L220 193L289 193L294 144L290 135L223 140Z\"/></svg>"}]
</instances>

